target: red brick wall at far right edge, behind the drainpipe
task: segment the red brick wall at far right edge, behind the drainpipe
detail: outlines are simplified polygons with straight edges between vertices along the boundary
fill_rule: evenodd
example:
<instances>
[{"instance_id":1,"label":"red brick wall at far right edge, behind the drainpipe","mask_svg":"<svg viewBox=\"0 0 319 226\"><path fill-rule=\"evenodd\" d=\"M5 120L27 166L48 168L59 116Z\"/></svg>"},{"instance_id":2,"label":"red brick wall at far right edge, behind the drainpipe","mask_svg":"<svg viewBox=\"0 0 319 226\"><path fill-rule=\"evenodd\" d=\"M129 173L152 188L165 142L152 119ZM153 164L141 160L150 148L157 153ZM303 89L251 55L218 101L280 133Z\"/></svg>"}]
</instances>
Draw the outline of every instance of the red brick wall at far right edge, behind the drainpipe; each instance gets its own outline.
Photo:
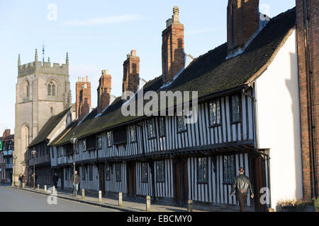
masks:
<instances>
[{"instance_id":1,"label":"red brick wall at far right edge, behind the drainpipe","mask_svg":"<svg viewBox=\"0 0 319 226\"><path fill-rule=\"evenodd\" d=\"M308 61L306 54L306 33L305 33L305 7L303 0L296 0L297 17L297 43L298 43L298 72L299 92L301 104L301 150L303 162L303 195L311 198L318 194L318 183L315 184L315 177L318 180L318 123L319 123L319 1L307 0L309 18L309 48L310 48L310 79L308 79ZM308 82L312 84L308 87ZM312 116L313 128L310 125L310 94L312 95ZM313 130L313 142L311 142L311 130ZM312 149L315 149L313 155ZM313 164L313 160L315 164ZM315 167L315 170L313 170Z\"/></svg>"}]
</instances>

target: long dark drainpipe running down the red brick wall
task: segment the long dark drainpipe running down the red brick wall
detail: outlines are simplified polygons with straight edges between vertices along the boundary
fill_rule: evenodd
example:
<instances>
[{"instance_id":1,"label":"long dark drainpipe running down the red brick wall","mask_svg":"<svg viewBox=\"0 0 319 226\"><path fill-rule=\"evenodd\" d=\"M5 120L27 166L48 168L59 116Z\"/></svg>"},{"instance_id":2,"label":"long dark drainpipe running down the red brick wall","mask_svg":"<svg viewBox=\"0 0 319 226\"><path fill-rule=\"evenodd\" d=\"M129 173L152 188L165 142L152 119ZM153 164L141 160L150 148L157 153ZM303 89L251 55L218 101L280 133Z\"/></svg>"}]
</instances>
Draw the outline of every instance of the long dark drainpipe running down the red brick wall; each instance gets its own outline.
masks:
<instances>
[{"instance_id":1,"label":"long dark drainpipe running down the red brick wall","mask_svg":"<svg viewBox=\"0 0 319 226\"><path fill-rule=\"evenodd\" d=\"M313 84L312 84L312 78L311 74L313 73L311 71L311 60L310 60L310 49L309 49L309 26L308 26L308 4L307 0L303 0L303 6L305 9L305 30L306 30L306 37L305 37L305 48L306 48L306 54L307 54L307 89L309 94L309 111L308 111L308 118L310 119L310 146L311 146L311 159L312 159L312 165L313 165L313 192L315 197L318 196L317 194L317 173L315 169L315 147L313 143L315 142L315 139L313 137L313 130L315 129L315 125L313 124Z\"/></svg>"}]
</instances>

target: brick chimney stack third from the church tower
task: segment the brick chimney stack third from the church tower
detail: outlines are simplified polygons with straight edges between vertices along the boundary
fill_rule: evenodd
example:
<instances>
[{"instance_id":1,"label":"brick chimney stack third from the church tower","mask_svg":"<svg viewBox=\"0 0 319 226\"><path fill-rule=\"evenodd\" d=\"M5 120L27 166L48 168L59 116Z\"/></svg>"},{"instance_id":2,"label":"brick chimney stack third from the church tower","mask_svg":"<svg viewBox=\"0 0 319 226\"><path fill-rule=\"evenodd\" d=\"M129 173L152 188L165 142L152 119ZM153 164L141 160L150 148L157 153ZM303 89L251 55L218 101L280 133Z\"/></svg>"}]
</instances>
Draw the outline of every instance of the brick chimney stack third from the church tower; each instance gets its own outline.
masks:
<instances>
[{"instance_id":1,"label":"brick chimney stack third from the church tower","mask_svg":"<svg viewBox=\"0 0 319 226\"><path fill-rule=\"evenodd\" d=\"M123 83L122 91L138 91L140 85L140 57L136 57L136 50L132 50L127 55L127 59L123 63Z\"/></svg>"}]
</instances>

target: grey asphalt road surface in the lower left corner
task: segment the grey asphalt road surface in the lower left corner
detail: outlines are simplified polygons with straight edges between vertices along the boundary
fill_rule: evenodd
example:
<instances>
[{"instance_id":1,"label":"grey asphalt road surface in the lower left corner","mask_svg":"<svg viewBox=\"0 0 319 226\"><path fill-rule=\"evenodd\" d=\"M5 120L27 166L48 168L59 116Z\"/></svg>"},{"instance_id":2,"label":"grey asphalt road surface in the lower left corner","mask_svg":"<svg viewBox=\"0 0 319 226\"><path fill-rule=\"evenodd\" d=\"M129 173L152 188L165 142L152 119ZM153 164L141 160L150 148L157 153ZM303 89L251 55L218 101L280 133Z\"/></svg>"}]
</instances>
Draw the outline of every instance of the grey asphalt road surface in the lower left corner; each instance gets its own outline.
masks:
<instances>
[{"instance_id":1,"label":"grey asphalt road surface in the lower left corner","mask_svg":"<svg viewBox=\"0 0 319 226\"><path fill-rule=\"evenodd\" d=\"M0 186L0 212L118 212L62 198L57 198L56 205L50 205L47 198L42 194Z\"/></svg>"}]
</instances>

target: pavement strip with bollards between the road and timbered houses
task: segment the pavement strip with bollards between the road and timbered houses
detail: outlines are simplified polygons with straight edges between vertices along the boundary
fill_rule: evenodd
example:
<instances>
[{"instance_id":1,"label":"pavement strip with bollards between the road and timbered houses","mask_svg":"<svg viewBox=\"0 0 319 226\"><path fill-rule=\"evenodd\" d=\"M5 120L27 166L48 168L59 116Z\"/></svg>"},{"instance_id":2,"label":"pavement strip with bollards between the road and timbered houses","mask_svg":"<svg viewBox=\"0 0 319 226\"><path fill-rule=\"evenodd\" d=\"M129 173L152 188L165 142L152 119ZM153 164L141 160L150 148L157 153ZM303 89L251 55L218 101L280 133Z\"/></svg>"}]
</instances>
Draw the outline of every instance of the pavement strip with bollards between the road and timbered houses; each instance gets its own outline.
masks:
<instances>
[{"instance_id":1,"label":"pavement strip with bollards between the road and timbered houses","mask_svg":"<svg viewBox=\"0 0 319 226\"><path fill-rule=\"evenodd\" d=\"M48 187L49 188L49 187ZM50 196L49 193L45 193L44 189L30 189L25 188L22 189L20 187L9 186L6 189L11 189L11 191L21 191L25 193L32 193L34 196L44 195ZM108 210L119 210L125 212L145 212L146 210L146 201L143 202L141 200L130 201L130 199L123 198L122 206L118 206L118 199L106 198L103 197L101 203L99 203L98 194L86 194L85 198L82 199L82 195L77 195L74 198L72 192L67 191L57 191L57 198L59 200L64 199L65 201L76 201L78 203L89 204L91 206L103 207ZM169 206L165 203L152 203L150 207L151 212L187 212L186 205L184 206ZM194 206L194 212L206 212L206 211L217 211L220 212L219 209L212 208L204 208L203 206Z\"/></svg>"}]
</instances>

